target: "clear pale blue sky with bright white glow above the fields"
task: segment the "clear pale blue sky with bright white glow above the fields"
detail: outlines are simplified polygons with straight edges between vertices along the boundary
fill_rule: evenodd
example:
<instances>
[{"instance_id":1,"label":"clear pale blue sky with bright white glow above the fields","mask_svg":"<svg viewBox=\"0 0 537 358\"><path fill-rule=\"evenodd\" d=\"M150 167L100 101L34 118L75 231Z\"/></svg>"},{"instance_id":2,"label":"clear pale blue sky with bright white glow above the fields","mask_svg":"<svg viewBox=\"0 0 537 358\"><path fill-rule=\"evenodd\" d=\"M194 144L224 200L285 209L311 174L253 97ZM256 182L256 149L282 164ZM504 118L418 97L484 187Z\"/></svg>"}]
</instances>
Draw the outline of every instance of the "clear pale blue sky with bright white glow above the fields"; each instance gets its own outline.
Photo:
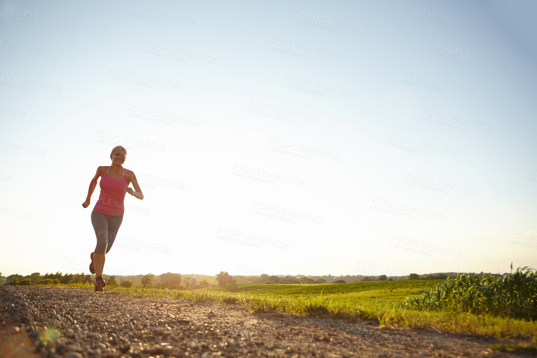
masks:
<instances>
[{"instance_id":1,"label":"clear pale blue sky with bright white glow above the fields","mask_svg":"<svg viewBox=\"0 0 537 358\"><path fill-rule=\"evenodd\" d=\"M4 275L535 267L534 2L1 4Z\"/></svg>"}]
</instances>

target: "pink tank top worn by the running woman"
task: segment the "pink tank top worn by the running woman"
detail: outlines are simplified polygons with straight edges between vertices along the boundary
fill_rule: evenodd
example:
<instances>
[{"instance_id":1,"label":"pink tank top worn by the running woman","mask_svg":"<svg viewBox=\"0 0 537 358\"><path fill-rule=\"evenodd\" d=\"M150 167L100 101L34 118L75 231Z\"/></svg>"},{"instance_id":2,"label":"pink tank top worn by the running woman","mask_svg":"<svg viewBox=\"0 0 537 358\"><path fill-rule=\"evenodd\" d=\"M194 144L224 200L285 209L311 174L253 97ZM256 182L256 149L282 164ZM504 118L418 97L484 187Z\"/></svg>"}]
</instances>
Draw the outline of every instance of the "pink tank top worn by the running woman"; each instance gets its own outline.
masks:
<instances>
[{"instance_id":1,"label":"pink tank top worn by the running woman","mask_svg":"<svg viewBox=\"0 0 537 358\"><path fill-rule=\"evenodd\" d=\"M108 167L110 169L110 167ZM105 176L100 180L101 189L99 200L93 207L93 210L105 215L119 216L125 212L124 199L127 190L127 181L125 180L125 168L123 168L123 177L114 179L108 176L108 169Z\"/></svg>"}]
</instances>

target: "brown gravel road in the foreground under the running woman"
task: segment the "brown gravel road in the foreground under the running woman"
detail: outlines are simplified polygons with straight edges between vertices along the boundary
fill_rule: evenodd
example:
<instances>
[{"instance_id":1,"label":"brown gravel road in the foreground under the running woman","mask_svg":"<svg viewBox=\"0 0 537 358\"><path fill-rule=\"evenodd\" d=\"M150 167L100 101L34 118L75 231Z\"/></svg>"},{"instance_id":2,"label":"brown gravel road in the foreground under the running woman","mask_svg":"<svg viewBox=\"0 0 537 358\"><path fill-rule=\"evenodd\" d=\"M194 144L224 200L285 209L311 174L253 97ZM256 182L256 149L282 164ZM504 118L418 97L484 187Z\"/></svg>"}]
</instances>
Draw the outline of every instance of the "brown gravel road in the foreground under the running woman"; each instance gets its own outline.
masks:
<instances>
[{"instance_id":1,"label":"brown gravel road in the foreground under the running woman","mask_svg":"<svg viewBox=\"0 0 537 358\"><path fill-rule=\"evenodd\" d=\"M2 358L521 356L492 351L492 342L106 289L0 286Z\"/></svg>"}]
</instances>

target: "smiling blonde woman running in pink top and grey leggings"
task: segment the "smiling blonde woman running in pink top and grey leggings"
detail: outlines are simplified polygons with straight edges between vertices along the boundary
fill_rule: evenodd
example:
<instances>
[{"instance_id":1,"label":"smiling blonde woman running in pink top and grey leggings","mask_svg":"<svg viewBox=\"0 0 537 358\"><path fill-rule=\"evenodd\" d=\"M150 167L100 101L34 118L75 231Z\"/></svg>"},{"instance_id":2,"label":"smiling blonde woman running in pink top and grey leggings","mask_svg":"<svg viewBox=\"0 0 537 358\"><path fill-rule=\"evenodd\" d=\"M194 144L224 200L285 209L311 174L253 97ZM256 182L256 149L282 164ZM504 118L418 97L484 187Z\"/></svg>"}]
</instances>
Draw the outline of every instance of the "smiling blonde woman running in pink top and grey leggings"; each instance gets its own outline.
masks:
<instances>
[{"instance_id":1,"label":"smiling blonde woman running in pink top and grey leggings","mask_svg":"<svg viewBox=\"0 0 537 358\"><path fill-rule=\"evenodd\" d=\"M112 149L112 153L110 153L112 165L97 168L97 172L90 182L86 201L82 203L84 208L90 205L91 195L97 186L97 178L100 177L99 200L91 212L91 224L97 236L97 246L95 251L90 254L90 272L96 276L96 291L102 291L103 287L106 286L103 278L105 255L114 244L119 226L123 221L125 194L128 192L140 200L143 199L142 190L136 181L136 176L132 171L125 170L122 167L126 158L127 149L124 147L117 146ZM133 183L136 191L128 187L130 183Z\"/></svg>"}]
</instances>

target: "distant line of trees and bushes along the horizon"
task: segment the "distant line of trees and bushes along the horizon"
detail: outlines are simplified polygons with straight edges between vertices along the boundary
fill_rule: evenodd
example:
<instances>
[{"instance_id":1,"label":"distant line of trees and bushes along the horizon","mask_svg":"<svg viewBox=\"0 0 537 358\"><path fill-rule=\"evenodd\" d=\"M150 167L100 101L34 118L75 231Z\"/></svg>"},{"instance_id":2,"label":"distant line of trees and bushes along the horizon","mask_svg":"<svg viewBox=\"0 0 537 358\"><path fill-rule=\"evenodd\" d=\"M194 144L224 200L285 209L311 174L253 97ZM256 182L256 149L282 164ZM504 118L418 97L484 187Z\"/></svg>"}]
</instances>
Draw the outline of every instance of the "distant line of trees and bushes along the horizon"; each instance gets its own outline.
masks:
<instances>
[{"instance_id":1,"label":"distant line of trees and bushes along the horizon","mask_svg":"<svg viewBox=\"0 0 537 358\"><path fill-rule=\"evenodd\" d=\"M497 274L474 274L479 277L484 275L497 276ZM9 275L2 276L0 273L0 284L10 285L49 285L49 284L86 284L93 283L93 275L82 274L63 274L56 272L55 274L47 273L41 275L40 273L32 273L31 275ZM162 275L132 275L132 276L115 276L106 275L103 277L106 280L106 284L120 285L122 287L131 287L133 284L139 284L142 287L148 288L174 288L174 289L188 289L192 286L192 278L198 280L197 286L209 286L209 285L227 285L227 284L304 284L304 283L351 283L362 281L400 281L400 280L446 280L447 277L456 277L457 273L436 273L436 274L410 274L408 276L362 276L362 275L346 275L346 276L332 276L330 274L325 276L304 276L304 275L250 275L250 276L230 276L226 271L221 271L220 274L215 276L209 275L182 275L178 273L165 273Z\"/></svg>"}]
</instances>

